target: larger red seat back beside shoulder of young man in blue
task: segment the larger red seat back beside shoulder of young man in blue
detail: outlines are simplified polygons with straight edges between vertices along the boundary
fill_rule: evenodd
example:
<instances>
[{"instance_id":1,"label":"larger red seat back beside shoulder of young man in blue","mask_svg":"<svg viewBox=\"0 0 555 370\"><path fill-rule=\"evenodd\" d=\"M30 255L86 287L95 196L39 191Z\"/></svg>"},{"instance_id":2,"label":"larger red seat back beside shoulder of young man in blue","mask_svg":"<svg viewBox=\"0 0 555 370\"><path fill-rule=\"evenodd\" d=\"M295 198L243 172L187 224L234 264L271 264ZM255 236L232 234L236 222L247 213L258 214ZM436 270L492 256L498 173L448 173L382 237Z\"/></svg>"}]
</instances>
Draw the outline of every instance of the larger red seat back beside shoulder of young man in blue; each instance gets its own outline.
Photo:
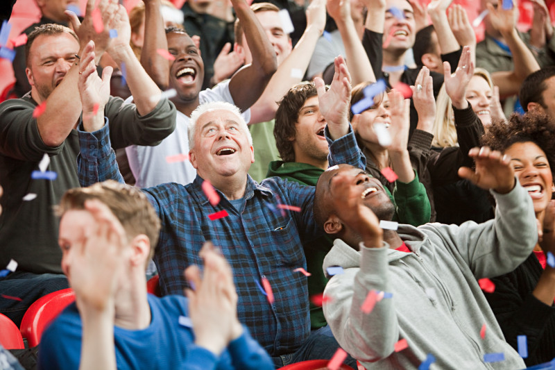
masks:
<instances>
[{"instance_id":1,"label":"larger red seat back beside shoulder of young man in blue","mask_svg":"<svg viewBox=\"0 0 555 370\"><path fill-rule=\"evenodd\" d=\"M46 294L28 308L22 320L21 333L24 338L27 338L29 347L40 343L44 328L73 301L75 301L74 291L67 288Z\"/></svg>"}]
</instances>

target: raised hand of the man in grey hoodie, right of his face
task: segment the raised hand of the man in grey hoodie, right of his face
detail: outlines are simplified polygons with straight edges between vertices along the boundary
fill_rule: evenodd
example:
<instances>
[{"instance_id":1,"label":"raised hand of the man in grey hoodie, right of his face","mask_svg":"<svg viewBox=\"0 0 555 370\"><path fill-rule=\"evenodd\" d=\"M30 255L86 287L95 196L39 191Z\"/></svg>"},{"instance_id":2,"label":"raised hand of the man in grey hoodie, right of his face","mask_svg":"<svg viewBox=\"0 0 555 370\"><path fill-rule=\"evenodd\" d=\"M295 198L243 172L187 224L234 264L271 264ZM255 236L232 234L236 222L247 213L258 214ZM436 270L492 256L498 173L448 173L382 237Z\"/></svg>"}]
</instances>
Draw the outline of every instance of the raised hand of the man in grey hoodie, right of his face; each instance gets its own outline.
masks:
<instances>
[{"instance_id":1,"label":"raised hand of the man in grey hoodie, right of his face","mask_svg":"<svg viewBox=\"0 0 555 370\"><path fill-rule=\"evenodd\" d=\"M482 189L493 189L499 194L506 194L515 187L516 179L511 157L492 151L488 146L472 148L468 155L474 158L476 170L468 167L459 168L459 176L468 178Z\"/></svg>"}]
</instances>

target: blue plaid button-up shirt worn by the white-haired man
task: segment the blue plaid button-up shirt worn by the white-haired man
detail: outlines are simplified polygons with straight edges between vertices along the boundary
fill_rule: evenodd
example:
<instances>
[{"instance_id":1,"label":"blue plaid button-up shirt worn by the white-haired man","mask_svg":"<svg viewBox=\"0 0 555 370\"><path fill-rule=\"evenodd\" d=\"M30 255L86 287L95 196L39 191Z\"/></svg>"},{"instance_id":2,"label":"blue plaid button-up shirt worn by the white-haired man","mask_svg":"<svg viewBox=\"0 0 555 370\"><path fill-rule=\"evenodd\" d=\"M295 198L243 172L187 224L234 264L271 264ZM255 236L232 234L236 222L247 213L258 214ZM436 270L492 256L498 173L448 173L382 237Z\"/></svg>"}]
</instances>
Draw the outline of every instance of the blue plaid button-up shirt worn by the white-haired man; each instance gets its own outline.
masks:
<instances>
[{"instance_id":1,"label":"blue plaid button-up shirt worn by the white-haired man","mask_svg":"<svg viewBox=\"0 0 555 370\"><path fill-rule=\"evenodd\" d=\"M108 130L107 124L94 133L80 127L78 174L82 186L108 179L123 183ZM365 168L366 160L352 130L333 143L328 138L328 142L330 164ZM198 252L211 240L233 269L239 321L272 356L293 353L310 331L307 278L293 269L306 269L302 243L323 234L312 217L314 187L277 177L257 184L248 176L237 210L219 190L221 201L212 206L202 183L196 176L185 186L168 183L143 190L162 220L154 258L162 294L183 294L187 287L183 271L190 264L202 265ZM275 209L278 203L296 205L301 212ZM208 215L219 210L229 215L210 221ZM272 304L258 286L262 278L271 284Z\"/></svg>"}]
</instances>

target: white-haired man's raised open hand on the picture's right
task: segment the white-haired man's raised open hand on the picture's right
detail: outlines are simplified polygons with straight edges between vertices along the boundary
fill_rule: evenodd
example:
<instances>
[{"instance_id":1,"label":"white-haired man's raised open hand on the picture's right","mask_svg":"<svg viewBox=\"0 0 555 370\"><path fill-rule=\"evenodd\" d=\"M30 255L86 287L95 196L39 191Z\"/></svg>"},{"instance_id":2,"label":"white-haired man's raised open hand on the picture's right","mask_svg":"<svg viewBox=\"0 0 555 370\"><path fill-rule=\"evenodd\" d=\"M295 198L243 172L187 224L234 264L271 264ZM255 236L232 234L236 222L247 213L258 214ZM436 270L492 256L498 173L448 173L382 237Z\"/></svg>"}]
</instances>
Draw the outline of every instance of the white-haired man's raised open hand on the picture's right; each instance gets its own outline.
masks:
<instances>
[{"instance_id":1,"label":"white-haired man's raised open hand on the picture's right","mask_svg":"<svg viewBox=\"0 0 555 370\"><path fill-rule=\"evenodd\" d=\"M349 130L349 104L351 98L351 76L342 56L334 60L335 73L330 89L325 91L322 78L316 78L318 105L324 116L333 140L339 139Z\"/></svg>"}]
</instances>

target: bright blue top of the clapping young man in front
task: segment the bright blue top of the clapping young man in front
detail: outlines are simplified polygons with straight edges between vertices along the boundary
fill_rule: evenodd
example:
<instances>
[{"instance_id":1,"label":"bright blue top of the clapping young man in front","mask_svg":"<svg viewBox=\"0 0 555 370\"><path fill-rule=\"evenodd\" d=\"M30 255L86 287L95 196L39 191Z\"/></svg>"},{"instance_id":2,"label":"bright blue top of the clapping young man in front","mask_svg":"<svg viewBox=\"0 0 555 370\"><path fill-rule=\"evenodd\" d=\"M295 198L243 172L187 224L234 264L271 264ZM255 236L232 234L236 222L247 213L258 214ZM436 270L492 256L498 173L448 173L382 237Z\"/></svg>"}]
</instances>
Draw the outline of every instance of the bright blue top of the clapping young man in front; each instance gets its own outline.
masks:
<instances>
[{"instance_id":1,"label":"bright blue top of the clapping young man in front","mask_svg":"<svg viewBox=\"0 0 555 370\"><path fill-rule=\"evenodd\" d=\"M148 294L151 325L143 330L114 327L118 369L274 369L268 353L244 328L216 357L194 344L193 330L179 323L187 317L187 298ZM39 348L39 369L77 370L81 355L82 324L75 303L46 328Z\"/></svg>"}]
</instances>

